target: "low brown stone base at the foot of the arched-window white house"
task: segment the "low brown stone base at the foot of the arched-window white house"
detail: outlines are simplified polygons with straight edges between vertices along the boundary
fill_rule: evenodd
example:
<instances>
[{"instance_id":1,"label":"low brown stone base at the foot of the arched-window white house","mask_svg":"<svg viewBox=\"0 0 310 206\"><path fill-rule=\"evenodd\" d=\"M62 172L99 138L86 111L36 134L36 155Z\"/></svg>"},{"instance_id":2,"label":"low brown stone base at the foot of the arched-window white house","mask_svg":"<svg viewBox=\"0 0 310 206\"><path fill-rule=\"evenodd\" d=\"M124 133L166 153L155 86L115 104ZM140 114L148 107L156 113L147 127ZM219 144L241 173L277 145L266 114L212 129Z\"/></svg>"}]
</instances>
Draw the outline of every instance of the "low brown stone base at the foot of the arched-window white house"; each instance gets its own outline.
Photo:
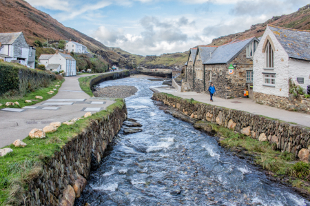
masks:
<instances>
[{"instance_id":1,"label":"low brown stone base at the foot of the arched-window white house","mask_svg":"<svg viewBox=\"0 0 310 206\"><path fill-rule=\"evenodd\" d=\"M272 107L310 114L310 99L304 98L303 95L299 94L297 97L292 94L289 94L289 97L285 97L254 92L254 101Z\"/></svg>"}]
</instances>

